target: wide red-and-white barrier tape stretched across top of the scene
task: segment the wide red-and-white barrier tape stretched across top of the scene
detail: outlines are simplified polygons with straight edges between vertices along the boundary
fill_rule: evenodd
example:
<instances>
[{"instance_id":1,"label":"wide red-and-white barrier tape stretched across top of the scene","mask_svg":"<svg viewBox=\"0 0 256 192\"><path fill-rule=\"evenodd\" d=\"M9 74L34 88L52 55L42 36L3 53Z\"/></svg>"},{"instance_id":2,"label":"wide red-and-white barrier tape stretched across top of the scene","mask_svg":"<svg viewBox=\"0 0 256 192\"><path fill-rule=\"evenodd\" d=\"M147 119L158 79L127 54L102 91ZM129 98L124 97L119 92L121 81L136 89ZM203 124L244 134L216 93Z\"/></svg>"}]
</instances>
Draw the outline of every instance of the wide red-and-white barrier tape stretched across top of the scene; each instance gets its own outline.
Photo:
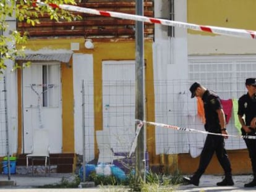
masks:
<instances>
[{"instance_id":1,"label":"wide red-and-white barrier tape stretched across top of the scene","mask_svg":"<svg viewBox=\"0 0 256 192\"><path fill-rule=\"evenodd\" d=\"M47 4L45 4L44 2L40 2L39 0L37 0L35 2L35 4L38 4L39 6L47 6ZM124 14L124 13L113 12L113 11L96 10L96 9L72 6L72 5L67 5L67 4L60 4L59 6L57 4L48 4L48 5L53 8L72 10L75 12L82 12L85 14L102 15L105 17L116 17L119 19L137 20L140 22L155 23L155 24L168 25L168 26L173 26L173 27L181 27L181 28L186 28L186 29L196 30L196 31L205 31L208 33L213 33L213 34L218 34L218 35L236 36L239 38L256 39L256 31L252 31L252 30L226 28L226 27L214 27L214 26L210 26L210 25L196 25L193 23L177 22L177 21L166 20L166 19L156 19L153 17Z\"/></svg>"}]
</instances>

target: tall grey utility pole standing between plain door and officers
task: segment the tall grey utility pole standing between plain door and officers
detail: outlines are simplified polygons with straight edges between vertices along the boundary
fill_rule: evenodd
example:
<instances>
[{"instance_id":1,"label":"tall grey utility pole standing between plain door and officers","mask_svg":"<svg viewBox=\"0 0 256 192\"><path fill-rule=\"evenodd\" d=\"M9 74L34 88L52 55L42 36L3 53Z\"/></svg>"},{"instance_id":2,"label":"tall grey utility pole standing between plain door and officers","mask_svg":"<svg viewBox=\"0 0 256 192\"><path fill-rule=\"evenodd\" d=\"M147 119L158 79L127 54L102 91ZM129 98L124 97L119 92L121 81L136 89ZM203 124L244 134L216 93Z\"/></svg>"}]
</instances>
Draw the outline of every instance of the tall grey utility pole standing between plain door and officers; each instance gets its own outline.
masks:
<instances>
[{"instance_id":1,"label":"tall grey utility pole standing between plain door and officers","mask_svg":"<svg viewBox=\"0 0 256 192\"><path fill-rule=\"evenodd\" d=\"M136 0L136 15L143 15L143 0ZM144 23L135 23L136 64L135 64L135 119L144 120ZM135 127L137 128L137 127ZM135 188L139 180L145 180L145 134L144 125L140 130L136 148Z\"/></svg>"}]
</instances>

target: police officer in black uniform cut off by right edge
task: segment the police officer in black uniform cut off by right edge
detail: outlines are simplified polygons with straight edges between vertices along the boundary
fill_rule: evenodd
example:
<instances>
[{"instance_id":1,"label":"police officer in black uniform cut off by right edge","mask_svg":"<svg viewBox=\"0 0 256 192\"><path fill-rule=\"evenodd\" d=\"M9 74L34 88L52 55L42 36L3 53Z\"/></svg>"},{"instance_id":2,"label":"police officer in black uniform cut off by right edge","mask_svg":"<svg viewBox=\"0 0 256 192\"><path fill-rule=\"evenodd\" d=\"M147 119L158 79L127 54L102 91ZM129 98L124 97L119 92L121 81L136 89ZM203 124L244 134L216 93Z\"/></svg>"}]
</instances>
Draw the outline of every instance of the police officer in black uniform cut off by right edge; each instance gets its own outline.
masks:
<instances>
[{"instance_id":1,"label":"police officer in black uniform cut off by right edge","mask_svg":"<svg viewBox=\"0 0 256 192\"><path fill-rule=\"evenodd\" d=\"M256 78L247 78L245 80L245 86L248 92L238 100L237 115L239 122L242 125L242 135L256 136ZM242 118L244 115L245 120ZM250 183L246 183L244 187L252 187L256 186L256 140L244 139L244 141L249 151L249 157L252 163L252 172L254 174L254 180Z\"/></svg>"}]
</instances>

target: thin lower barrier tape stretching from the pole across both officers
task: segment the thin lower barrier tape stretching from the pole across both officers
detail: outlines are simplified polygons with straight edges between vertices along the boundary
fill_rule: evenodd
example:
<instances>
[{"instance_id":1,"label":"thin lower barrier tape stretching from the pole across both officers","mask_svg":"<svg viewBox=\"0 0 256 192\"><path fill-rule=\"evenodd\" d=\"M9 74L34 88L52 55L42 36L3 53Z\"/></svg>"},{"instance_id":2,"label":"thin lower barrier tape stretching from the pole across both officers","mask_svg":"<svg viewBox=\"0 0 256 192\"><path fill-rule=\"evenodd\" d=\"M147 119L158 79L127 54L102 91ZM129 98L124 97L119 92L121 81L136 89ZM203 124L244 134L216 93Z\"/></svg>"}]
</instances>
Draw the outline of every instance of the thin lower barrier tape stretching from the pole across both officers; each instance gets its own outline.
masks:
<instances>
[{"instance_id":1,"label":"thin lower barrier tape stretching from the pole across both officers","mask_svg":"<svg viewBox=\"0 0 256 192\"><path fill-rule=\"evenodd\" d=\"M147 123L150 125L155 125L158 127L171 128L171 129L179 130L179 131L189 131L189 132L193 132L193 133L204 133L204 134L210 134L210 135L232 136L232 137L243 138L243 139L253 139L253 140L256 139L256 136L252 136L252 135L226 135L226 134L221 134L221 133L211 133L208 131L195 130L193 128L181 128L181 127L177 127L174 125L167 125L164 123L146 122L146 121L142 121L142 120L139 120L139 122Z\"/></svg>"}]
</instances>

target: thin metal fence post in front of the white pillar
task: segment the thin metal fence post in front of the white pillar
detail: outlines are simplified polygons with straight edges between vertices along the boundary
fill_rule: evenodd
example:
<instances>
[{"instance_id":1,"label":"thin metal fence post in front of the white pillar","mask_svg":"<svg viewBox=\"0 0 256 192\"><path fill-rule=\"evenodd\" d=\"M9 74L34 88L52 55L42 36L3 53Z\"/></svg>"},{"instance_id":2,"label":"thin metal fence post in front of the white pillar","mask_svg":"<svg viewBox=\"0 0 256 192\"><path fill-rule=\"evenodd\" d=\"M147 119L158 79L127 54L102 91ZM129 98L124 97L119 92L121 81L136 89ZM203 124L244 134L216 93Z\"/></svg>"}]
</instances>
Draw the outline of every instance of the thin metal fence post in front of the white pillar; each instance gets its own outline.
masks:
<instances>
[{"instance_id":1,"label":"thin metal fence post in front of the white pillar","mask_svg":"<svg viewBox=\"0 0 256 192\"><path fill-rule=\"evenodd\" d=\"M85 182L85 80L82 80L83 182Z\"/></svg>"}]
</instances>

